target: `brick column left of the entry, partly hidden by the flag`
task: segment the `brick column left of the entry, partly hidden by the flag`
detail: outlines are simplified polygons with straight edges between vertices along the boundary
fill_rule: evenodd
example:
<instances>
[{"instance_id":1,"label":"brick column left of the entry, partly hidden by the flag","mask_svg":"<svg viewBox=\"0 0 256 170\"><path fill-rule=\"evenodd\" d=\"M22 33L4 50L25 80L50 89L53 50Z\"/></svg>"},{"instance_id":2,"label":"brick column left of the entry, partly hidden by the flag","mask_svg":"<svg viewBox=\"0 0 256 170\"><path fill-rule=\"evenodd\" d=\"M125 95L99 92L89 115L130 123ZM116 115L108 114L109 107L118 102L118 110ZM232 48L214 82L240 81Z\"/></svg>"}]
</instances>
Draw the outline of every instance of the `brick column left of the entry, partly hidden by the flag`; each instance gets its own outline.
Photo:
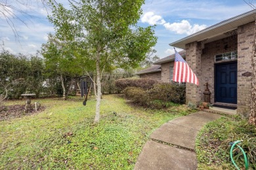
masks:
<instances>
[{"instance_id":1,"label":"brick column left of the entry, partly hidden by the flag","mask_svg":"<svg viewBox=\"0 0 256 170\"><path fill-rule=\"evenodd\" d=\"M198 104L201 101L202 86L201 82L201 43L200 42L191 42L186 44L186 62L192 71L196 74L199 80L199 86L192 83L186 83L186 104L194 103Z\"/></svg>"}]
</instances>

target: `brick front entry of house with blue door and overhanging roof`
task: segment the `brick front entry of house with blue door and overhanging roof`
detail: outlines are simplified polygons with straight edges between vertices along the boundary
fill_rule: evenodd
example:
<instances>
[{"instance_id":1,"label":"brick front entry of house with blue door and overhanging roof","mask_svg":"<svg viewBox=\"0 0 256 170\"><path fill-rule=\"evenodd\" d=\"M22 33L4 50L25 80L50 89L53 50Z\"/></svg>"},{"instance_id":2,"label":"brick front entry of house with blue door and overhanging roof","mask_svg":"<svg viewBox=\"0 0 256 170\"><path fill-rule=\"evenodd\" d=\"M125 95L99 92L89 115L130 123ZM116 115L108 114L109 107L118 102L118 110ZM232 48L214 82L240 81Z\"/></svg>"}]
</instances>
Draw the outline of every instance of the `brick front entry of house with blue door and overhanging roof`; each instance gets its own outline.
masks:
<instances>
[{"instance_id":1,"label":"brick front entry of house with blue door and overhanging roof","mask_svg":"<svg viewBox=\"0 0 256 170\"><path fill-rule=\"evenodd\" d=\"M186 84L186 103L203 101L208 82L211 103L237 107L249 116L255 16L251 10L169 44L186 49L186 62L200 82Z\"/></svg>"}]
</instances>

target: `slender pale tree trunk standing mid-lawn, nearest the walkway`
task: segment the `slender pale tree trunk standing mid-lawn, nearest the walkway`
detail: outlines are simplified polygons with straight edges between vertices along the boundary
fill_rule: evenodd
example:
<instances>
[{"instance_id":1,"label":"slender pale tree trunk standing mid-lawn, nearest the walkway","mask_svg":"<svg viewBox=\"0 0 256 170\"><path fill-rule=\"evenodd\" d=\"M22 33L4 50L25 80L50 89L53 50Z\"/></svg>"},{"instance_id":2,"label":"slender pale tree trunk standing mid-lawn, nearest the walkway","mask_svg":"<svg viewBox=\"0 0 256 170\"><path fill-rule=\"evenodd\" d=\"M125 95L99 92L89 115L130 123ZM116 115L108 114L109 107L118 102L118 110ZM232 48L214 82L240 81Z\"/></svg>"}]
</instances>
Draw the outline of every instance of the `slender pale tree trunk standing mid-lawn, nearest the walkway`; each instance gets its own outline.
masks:
<instances>
[{"instance_id":1,"label":"slender pale tree trunk standing mid-lawn, nearest the walkway","mask_svg":"<svg viewBox=\"0 0 256 170\"><path fill-rule=\"evenodd\" d=\"M100 121L100 100L101 100L101 84L100 84L100 52L97 52L96 56L96 112L95 112L95 123Z\"/></svg>"}]
</instances>

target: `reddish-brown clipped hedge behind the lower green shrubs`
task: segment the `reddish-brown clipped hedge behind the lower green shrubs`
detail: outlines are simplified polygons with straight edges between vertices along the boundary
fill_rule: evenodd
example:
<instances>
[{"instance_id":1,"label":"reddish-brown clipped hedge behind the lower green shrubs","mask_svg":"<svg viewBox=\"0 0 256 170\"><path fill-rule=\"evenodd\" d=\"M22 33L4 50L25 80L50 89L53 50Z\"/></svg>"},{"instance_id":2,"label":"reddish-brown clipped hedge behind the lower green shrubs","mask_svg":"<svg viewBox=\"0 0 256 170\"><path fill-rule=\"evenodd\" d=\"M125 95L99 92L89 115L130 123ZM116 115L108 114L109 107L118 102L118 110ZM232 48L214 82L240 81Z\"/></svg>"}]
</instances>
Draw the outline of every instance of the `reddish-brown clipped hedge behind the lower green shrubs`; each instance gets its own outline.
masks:
<instances>
[{"instance_id":1,"label":"reddish-brown clipped hedge behind the lower green shrubs","mask_svg":"<svg viewBox=\"0 0 256 170\"><path fill-rule=\"evenodd\" d=\"M148 90L154 87L154 84L157 84L157 80L149 78L121 78L116 80L115 84L119 92L125 90L128 87L142 88Z\"/></svg>"}]
</instances>

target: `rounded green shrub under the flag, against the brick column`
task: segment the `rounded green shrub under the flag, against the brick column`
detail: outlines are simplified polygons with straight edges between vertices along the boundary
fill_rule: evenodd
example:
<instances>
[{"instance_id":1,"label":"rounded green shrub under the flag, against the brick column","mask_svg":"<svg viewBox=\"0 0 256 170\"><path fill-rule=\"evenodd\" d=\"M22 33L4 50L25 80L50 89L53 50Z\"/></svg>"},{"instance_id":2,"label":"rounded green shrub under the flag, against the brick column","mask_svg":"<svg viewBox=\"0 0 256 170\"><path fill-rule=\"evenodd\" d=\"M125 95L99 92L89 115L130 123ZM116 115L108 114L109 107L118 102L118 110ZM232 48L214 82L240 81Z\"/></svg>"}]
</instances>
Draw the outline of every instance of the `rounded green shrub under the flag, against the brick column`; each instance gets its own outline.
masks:
<instances>
[{"instance_id":1,"label":"rounded green shrub under the flag, against the brick column","mask_svg":"<svg viewBox=\"0 0 256 170\"><path fill-rule=\"evenodd\" d=\"M150 99L172 101L173 103L185 103L185 86L170 83L155 84L150 90Z\"/></svg>"}]
</instances>

